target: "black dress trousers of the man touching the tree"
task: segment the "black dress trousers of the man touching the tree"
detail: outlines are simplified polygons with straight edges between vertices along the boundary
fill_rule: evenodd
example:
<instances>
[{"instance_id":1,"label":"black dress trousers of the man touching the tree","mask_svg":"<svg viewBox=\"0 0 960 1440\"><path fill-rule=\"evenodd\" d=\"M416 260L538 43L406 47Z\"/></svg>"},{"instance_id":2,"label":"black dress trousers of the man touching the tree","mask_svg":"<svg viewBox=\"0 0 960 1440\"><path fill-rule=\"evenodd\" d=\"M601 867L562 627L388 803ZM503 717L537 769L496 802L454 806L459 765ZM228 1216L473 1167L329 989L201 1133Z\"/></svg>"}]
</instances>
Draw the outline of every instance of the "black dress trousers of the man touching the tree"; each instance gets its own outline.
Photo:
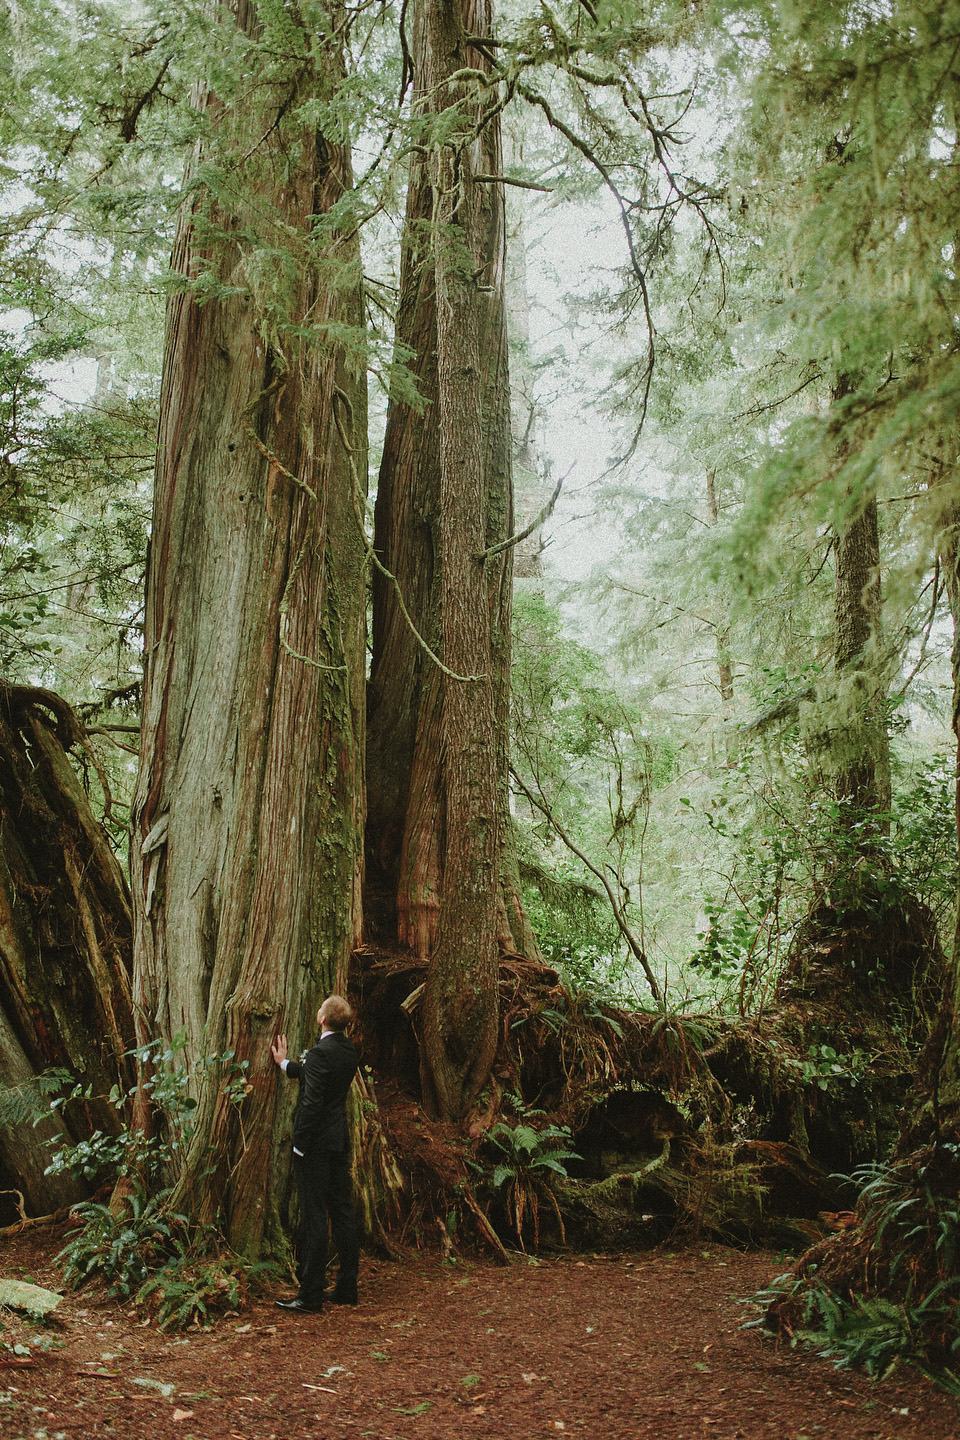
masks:
<instances>
[{"instance_id":1,"label":"black dress trousers of the man touching the tree","mask_svg":"<svg viewBox=\"0 0 960 1440\"><path fill-rule=\"evenodd\" d=\"M315 1151L312 1155L294 1155L294 1175L299 1197L296 1256L299 1299L304 1305L322 1303L327 1276L327 1217L340 1257L337 1293L345 1299L356 1299L360 1246L353 1210L350 1153Z\"/></svg>"}]
</instances>

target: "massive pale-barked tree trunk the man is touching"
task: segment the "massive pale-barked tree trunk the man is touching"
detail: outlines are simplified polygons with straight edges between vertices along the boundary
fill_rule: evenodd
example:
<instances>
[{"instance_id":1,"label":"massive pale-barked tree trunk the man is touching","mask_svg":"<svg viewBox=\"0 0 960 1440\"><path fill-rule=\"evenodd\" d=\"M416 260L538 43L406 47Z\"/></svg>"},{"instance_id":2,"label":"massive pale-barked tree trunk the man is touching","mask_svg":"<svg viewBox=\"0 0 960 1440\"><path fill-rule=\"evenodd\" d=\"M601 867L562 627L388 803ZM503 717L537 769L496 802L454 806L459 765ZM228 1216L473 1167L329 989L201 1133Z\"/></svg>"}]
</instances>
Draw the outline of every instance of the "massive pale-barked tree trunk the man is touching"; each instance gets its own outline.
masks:
<instances>
[{"instance_id":1,"label":"massive pale-barked tree trunk the man is touching","mask_svg":"<svg viewBox=\"0 0 960 1440\"><path fill-rule=\"evenodd\" d=\"M135 998L141 1040L184 1031L189 1066L225 1050L249 1066L242 1123L216 1073L199 1084L177 1201L255 1254L291 1103L269 1041L309 1041L360 930L366 392L340 340L363 323L357 236L330 215L350 157L302 118L335 111L341 7L318 35L248 0L220 14L233 88L197 92L207 138L167 312Z\"/></svg>"}]
</instances>

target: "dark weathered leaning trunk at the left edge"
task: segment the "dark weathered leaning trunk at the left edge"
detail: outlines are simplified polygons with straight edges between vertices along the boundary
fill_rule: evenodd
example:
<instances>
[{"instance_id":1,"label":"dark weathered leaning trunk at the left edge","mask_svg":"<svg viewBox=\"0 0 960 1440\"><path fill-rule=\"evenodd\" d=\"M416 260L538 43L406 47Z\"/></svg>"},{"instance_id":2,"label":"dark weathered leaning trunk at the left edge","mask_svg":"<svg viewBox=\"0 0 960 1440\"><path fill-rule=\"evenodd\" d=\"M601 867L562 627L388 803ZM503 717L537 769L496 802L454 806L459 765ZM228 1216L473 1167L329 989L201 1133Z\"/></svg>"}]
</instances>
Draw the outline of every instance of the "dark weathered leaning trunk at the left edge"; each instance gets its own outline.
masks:
<instances>
[{"instance_id":1,"label":"dark weathered leaning trunk at the left edge","mask_svg":"<svg viewBox=\"0 0 960 1440\"><path fill-rule=\"evenodd\" d=\"M89 1089L56 1123L0 1126L0 1172L35 1212L82 1194L45 1175L46 1142L117 1132L108 1096L132 1080L130 894L68 755L82 744L59 696L0 685L0 1086L58 1067Z\"/></svg>"}]
</instances>

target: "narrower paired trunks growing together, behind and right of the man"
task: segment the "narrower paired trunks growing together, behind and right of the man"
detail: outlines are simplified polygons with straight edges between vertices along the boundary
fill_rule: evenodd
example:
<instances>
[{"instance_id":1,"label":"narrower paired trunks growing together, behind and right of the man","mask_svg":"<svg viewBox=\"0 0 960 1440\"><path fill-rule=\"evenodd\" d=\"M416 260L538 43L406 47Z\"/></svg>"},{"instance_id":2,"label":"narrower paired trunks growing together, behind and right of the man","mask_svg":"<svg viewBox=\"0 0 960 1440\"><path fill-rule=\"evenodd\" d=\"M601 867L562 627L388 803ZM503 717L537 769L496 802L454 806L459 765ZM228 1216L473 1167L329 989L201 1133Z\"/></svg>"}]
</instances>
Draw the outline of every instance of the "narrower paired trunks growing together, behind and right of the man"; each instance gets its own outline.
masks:
<instances>
[{"instance_id":1,"label":"narrower paired trunks growing together, behind and right of the man","mask_svg":"<svg viewBox=\"0 0 960 1440\"><path fill-rule=\"evenodd\" d=\"M422 1077L461 1116L498 1038L498 945L535 953L508 845L507 744L512 552L499 125L468 35L489 0L417 0L415 108L436 140L412 157L397 340L425 413L394 393L376 547L368 707L368 914L381 937L430 958Z\"/></svg>"}]
</instances>

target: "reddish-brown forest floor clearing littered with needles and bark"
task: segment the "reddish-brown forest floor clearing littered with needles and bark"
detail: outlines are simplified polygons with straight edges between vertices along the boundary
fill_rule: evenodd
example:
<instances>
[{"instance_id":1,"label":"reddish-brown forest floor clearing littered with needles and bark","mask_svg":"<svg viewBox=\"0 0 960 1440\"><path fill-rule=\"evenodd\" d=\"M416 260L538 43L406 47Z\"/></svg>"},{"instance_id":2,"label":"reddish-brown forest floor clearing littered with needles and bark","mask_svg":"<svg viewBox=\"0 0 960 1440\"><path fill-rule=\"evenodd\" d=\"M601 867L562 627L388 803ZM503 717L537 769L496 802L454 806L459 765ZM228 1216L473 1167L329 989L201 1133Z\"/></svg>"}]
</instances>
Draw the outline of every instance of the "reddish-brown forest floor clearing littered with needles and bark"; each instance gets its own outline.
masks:
<instances>
[{"instance_id":1,"label":"reddish-brown forest floor clearing littered with needles and bark","mask_svg":"<svg viewBox=\"0 0 960 1440\"><path fill-rule=\"evenodd\" d=\"M0 1273L56 1287L63 1228L7 1240ZM947 1440L960 1404L914 1371L836 1371L741 1329L783 1269L720 1246L499 1269L366 1260L361 1302L286 1315L278 1289L209 1331L161 1333L92 1292L6 1310L12 1440Z\"/></svg>"}]
</instances>

